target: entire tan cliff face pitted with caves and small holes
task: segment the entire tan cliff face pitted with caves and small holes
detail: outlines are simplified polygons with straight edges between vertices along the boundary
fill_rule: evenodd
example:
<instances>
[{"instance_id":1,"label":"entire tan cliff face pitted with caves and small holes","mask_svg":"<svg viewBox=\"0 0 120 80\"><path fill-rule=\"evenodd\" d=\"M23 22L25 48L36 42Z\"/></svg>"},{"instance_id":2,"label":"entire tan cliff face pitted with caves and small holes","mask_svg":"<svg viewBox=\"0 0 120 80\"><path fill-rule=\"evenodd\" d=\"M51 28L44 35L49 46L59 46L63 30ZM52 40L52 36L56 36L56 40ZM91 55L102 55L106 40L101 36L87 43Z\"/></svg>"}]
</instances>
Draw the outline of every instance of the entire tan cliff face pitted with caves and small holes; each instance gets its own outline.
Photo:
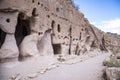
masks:
<instances>
[{"instance_id":1,"label":"entire tan cliff face pitted with caves and small holes","mask_svg":"<svg viewBox=\"0 0 120 80\"><path fill-rule=\"evenodd\" d=\"M0 62L107 50L71 0L0 0Z\"/></svg>"}]
</instances>

